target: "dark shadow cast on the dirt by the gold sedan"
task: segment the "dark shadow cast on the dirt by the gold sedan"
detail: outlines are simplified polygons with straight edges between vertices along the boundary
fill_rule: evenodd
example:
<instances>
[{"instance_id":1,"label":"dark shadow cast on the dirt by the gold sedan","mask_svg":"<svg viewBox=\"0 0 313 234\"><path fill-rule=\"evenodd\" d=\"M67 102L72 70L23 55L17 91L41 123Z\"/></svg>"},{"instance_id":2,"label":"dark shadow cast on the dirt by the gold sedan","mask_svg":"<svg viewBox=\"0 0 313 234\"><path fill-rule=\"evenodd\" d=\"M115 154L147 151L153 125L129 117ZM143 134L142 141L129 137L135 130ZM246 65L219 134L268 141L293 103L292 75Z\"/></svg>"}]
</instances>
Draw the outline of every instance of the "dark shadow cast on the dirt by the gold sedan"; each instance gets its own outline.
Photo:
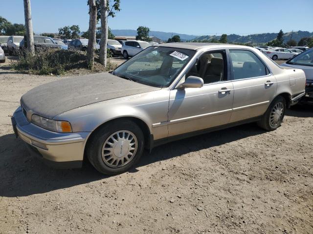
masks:
<instances>
[{"instance_id":1,"label":"dark shadow cast on the dirt by the gold sedan","mask_svg":"<svg viewBox=\"0 0 313 234\"><path fill-rule=\"evenodd\" d=\"M255 123L251 123L229 128L227 131L217 131L171 142L156 147L151 154L145 152L139 165L129 173L137 173L140 167L157 161L263 133L265 133L264 130L257 127ZM0 196L41 194L108 178L98 173L88 162L82 169L49 168L42 161L29 155L25 143L19 138L16 139L14 134L0 137L0 142Z\"/></svg>"}]
</instances>

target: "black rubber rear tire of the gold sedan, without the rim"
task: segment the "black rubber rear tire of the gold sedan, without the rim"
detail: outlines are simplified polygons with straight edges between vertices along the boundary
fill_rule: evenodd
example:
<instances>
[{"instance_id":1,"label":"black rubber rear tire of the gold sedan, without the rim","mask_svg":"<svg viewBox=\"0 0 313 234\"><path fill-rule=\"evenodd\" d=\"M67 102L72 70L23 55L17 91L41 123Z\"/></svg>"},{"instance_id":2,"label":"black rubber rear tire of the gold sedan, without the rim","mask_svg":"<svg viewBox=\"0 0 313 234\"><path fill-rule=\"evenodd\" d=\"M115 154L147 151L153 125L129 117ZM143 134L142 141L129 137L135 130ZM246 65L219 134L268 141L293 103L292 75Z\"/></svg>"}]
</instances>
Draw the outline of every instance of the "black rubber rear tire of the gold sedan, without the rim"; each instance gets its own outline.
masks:
<instances>
[{"instance_id":1,"label":"black rubber rear tire of the gold sedan, without the rim","mask_svg":"<svg viewBox=\"0 0 313 234\"><path fill-rule=\"evenodd\" d=\"M279 120L276 120L277 123L273 124L271 121L271 118L274 118L274 116L276 115L276 114L274 114L274 112L275 112L274 108L276 105L278 105L278 103L282 104L283 110L280 114ZM268 109L265 112L265 114L263 115L262 119L260 121L258 121L257 123L258 123L259 127L263 128L267 131L273 131L281 125L281 123L284 119L284 116L285 116L285 112L286 112L286 100L282 96L277 96L276 98L274 98L274 100L268 106ZM274 116L272 116L272 115L274 115ZM279 113L277 113L277 115L279 115Z\"/></svg>"}]
</instances>

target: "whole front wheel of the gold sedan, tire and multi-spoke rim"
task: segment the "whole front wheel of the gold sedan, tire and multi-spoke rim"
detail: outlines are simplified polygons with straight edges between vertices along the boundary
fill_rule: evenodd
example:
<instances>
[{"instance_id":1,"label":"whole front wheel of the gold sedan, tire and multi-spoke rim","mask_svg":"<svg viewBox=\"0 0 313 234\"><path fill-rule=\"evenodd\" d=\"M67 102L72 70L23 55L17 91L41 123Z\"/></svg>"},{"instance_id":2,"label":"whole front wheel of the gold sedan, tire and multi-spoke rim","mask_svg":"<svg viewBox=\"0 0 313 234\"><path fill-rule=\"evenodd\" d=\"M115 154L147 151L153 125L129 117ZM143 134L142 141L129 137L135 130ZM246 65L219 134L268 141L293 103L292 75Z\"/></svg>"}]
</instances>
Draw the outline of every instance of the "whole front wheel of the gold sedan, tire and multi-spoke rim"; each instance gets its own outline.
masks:
<instances>
[{"instance_id":1,"label":"whole front wheel of the gold sedan, tire and multi-spoke rim","mask_svg":"<svg viewBox=\"0 0 313 234\"><path fill-rule=\"evenodd\" d=\"M130 120L104 125L91 138L87 148L90 163L100 173L116 175L134 166L144 150L141 129Z\"/></svg>"}]
</instances>

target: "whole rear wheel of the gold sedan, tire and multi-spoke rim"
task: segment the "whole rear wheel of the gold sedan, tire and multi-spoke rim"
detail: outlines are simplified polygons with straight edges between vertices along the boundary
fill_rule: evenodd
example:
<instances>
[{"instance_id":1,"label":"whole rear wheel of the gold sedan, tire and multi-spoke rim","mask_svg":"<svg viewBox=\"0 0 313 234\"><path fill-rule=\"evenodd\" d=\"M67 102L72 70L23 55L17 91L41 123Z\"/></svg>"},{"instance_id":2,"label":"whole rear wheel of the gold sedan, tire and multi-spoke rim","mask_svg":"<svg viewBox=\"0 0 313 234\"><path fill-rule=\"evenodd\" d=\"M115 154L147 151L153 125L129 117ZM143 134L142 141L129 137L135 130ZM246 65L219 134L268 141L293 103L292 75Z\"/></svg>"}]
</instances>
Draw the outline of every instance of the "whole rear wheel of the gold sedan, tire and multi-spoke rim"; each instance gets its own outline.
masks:
<instances>
[{"instance_id":1,"label":"whole rear wheel of the gold sedan, tire and multi-spoke rim","mask_svg":"<svg viewBox=\"0 0 313 234\"><path fill-rule=\"evenodd\" d=\"M262 119L258 122L258 125L268 131L277 129L285 116L286 100L285 98L278 96L269 105L268 110L263 115Z\"/></svg>"}]
</instances>

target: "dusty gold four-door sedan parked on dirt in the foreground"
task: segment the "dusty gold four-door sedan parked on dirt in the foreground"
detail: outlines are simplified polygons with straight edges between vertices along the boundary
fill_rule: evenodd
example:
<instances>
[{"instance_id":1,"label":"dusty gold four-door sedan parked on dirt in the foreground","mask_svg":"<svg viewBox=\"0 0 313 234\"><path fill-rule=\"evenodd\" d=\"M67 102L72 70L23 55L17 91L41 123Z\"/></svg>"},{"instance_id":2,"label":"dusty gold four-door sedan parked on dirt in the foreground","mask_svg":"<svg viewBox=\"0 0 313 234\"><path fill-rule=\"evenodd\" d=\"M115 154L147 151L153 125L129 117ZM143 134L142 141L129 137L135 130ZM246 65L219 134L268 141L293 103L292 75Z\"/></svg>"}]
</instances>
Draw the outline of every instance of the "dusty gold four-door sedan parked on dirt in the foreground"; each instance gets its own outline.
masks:
<instances>
[{"instance_id":1,"label":"dusty gold four-door sedan parked on dirt in the foreground","mask_svg":"<svg viewBox=\"0 0 313 234\"><path fill-rule=\"evenodd\" d=\"M12 125L50 164L80 167L89 158L113 175L136 164L144 148L175 139L247 122L275 130L305 94L305 79L251 47L165 43L111 73L30 90Z\"/></svg>"}]
</instances>

